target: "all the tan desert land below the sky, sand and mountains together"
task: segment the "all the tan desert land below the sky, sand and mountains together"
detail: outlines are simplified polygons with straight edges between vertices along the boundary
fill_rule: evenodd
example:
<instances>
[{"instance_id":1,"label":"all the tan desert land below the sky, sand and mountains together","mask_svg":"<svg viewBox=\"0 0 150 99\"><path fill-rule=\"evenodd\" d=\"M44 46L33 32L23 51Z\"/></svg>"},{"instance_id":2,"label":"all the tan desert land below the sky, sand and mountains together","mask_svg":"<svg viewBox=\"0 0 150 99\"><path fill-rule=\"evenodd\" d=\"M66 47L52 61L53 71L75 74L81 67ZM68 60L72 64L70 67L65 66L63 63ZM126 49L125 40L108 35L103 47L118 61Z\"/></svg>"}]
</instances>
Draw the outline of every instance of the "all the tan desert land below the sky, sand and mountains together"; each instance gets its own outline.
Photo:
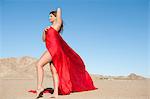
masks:
<instances>
[{"instance_id":1,"label":"all the tan desert land below the sky, sand and mountains together","mask_svg":"<svg viewBox=\"0 0 150 99\"><path fill-rule=\"evenodd\" d=\"M0 59L0 99L35 99L37 59L29 56ZM44 67L45 88L53 88L49 66ZM91 74L97 90L59 95L57 99L150 99L150 79L131 73L127 76ZM40 99L52 99L45 93Z\"/></svg>"}]
</instances>

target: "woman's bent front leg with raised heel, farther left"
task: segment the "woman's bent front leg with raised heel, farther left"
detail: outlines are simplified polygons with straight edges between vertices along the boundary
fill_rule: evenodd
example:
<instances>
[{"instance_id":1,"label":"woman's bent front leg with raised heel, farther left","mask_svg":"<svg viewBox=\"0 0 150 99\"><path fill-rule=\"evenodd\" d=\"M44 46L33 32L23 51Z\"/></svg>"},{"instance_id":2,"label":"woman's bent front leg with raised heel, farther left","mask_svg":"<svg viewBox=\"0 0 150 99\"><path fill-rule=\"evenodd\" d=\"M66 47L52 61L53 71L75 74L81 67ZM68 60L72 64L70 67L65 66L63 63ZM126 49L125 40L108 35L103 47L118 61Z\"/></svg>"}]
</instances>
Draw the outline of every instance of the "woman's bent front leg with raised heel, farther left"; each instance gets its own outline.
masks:
<instances>
[{"instance_id":1,"label":"woman's bent front leg with raised heel, farther left","mask_svg":"<svg viewBox=\"0 0 150 99\"><path fill-rule=\"evenodd\" d=\"M40 92L44 90L42 83L43 83L43 67L45 64L51 62L52 58L48 51L45 51L44 54L40 57L39 61L37 62L37 97L39 96Z\"/></svg>"}]
</instances>

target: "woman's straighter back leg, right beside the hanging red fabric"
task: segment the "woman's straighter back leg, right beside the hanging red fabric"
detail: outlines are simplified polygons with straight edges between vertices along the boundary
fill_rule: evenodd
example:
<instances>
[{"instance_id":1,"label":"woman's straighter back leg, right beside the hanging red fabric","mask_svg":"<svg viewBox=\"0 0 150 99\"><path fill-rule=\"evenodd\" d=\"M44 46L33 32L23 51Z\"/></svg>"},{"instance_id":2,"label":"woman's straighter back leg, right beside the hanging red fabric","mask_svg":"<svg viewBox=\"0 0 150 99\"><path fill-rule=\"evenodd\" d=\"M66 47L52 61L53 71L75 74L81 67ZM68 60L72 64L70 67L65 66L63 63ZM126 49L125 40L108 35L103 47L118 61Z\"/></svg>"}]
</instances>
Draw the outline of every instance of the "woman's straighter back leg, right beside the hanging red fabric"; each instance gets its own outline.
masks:
<instances>
[{"instance_id":1,"label":"woman's straighter back leg, right beside the hanging red fabric","mask_svg":"<svg viewBox=\"0 0 150 99\"><path fill-rule=\"evenodd\" d=\"M54 85L54 93L53 93L54 96L53 97L56 98L58 96L58 83L59 83L58 74L57 74L56 68L53 63L50 64L50 69L52 72L53 85Z\"/></svg>"}]
</instances>

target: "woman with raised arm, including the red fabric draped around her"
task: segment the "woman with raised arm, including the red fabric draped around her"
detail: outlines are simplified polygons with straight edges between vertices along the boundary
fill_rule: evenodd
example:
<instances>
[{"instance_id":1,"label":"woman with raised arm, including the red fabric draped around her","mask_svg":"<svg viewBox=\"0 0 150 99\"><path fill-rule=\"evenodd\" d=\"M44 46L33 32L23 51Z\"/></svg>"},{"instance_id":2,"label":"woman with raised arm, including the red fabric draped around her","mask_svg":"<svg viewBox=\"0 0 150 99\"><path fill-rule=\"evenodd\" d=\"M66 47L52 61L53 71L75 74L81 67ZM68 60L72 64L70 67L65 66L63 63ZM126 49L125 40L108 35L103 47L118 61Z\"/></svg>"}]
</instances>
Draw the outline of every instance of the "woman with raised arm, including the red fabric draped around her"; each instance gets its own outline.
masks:
<instances>
[{"instance_id":1,"label":"woman with raised arm, including the red fabric draped around her","mask_svg":"<svg viewBox=\"0 0 150 99\"><path fill-rule=\"evenodd\" d=\"M47 51L41 56L37 63L37 97L44 90L43 66L50 63L54 84L54 97L58 94L66 95L71 92L87 91L97 89L85 70L81 57L63 40L60 32L63 29L61 9L49 14L52 25L43 32L43 41Z\"/></svg>"}]
</instances>

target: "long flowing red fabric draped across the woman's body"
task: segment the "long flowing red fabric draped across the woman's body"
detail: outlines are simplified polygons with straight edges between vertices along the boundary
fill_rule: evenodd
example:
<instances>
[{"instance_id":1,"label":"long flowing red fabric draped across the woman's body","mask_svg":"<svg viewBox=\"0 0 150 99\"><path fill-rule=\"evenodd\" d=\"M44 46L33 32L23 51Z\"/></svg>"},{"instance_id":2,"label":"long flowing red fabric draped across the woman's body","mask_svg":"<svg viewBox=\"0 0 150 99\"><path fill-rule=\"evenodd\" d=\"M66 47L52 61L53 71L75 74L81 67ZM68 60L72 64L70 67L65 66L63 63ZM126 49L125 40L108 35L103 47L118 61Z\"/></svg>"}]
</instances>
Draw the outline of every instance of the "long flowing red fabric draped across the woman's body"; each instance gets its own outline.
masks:
<instances>
[{"instance_id":1,"label":"long flowing red fabric draped across the woman's body","mask_svg":"<svg viewBox=\"0 0 150 99\"><path fill-rule=\"evenodd\" d=\"M81 57L53 27L46 31L46 48L52 56L52 62L59 76L59 94L97 89Z\"/></svg>"}]
</instances>

